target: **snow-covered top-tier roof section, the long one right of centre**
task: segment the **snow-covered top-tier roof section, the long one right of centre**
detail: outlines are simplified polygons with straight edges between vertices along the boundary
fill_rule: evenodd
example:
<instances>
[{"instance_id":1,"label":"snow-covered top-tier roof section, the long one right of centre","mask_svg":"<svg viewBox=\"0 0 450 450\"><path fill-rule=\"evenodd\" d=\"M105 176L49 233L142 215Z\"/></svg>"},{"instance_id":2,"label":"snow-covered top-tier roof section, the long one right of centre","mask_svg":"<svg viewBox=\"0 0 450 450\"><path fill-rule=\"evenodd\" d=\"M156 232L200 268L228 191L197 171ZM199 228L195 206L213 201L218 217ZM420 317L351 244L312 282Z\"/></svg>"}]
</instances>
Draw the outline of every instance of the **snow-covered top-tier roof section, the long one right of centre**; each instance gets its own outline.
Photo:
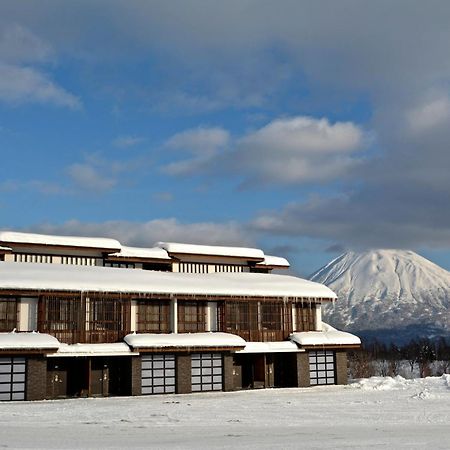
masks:
<instances>
[{"instance_id":1,"label":"snow-covered top-tier roof section, the long one right of centre","mask_svg":"<svg viewBox=\"0 0 450 450\"><path fill-rule=\"evenodd\" d=\"M179 244L177 242L158 242L158 247L164 248L169 253L181 253L187 255L227 256L231 258L264 259L264 252L258 248L246 247L221 247L218 245Z\"/></svg>"}]
</instances>

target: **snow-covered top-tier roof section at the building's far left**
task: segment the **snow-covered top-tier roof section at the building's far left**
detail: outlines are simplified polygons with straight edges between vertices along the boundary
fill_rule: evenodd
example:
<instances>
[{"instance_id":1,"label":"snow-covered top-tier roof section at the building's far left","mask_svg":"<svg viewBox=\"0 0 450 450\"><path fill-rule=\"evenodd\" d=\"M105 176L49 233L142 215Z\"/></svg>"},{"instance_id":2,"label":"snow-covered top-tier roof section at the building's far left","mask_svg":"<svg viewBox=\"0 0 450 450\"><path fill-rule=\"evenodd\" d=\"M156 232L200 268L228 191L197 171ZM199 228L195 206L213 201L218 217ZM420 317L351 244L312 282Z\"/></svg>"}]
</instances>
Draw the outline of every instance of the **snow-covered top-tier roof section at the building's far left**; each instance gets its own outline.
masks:
<instances>
[{"instance_id":1,"label":"snow-covered top-tier roof section at the building's far left","mask_svg":"<svg viewBox=\"0 0 450 450\"><path fill-rule=\"evenodd\" d=\"M59 247L88 247L107 250L120 250L121 248L119 241L109 238L50 236L46 234L19 233L16 231L0 231L0 242Z\"/></svg>"}]
</instances>

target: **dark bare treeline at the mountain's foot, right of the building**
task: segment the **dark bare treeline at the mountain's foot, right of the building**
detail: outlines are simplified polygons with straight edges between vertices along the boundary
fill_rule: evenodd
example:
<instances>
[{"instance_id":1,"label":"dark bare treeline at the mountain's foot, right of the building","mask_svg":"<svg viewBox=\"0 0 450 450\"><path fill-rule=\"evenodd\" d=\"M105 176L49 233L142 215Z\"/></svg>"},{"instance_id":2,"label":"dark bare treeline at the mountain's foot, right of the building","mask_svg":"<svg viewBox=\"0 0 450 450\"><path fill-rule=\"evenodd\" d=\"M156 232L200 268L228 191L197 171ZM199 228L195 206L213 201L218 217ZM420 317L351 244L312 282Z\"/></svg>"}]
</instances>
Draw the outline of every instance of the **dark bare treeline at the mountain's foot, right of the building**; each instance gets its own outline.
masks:
<instances>
[{"instance_id":1,"label":"dark bare treeline at the mountain's foot, right of the building","mask_svg":"<svg viewBox=\"0 0 450 450\"><path fill-rule=\"evenodd\" d=\"M397 346L374 341L349 353L349 372L351 378L441 376L450 373L450 342L420 339Z\"/></svg>"}]
</instances>

